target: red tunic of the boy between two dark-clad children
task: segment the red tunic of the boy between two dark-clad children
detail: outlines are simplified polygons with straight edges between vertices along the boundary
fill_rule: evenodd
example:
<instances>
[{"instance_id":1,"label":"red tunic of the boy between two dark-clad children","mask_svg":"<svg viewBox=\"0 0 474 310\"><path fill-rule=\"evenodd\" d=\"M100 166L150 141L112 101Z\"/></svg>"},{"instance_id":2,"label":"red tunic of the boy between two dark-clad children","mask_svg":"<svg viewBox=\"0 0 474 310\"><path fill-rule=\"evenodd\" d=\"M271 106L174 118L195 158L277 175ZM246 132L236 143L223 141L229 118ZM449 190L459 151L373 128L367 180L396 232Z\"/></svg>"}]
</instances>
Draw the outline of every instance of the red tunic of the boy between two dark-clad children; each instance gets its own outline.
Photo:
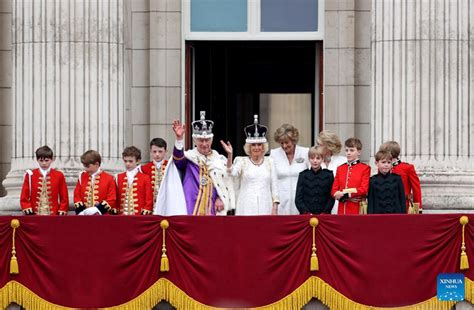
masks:
<instances>
[{"instance_id":1,"label":"red tunic of the boy between two dark-clad children","mask_svg":"<svg viewBox=\"0 0 474 310\"><path fill-rule=\"evenodd\" d=\"M359 160L337 167L331 195L334 197L337 191L349 190L347 200L339 201L337 214L359 214L360 202L369 192L369 182L370 167Z\"/></svg>"}]
</instances>

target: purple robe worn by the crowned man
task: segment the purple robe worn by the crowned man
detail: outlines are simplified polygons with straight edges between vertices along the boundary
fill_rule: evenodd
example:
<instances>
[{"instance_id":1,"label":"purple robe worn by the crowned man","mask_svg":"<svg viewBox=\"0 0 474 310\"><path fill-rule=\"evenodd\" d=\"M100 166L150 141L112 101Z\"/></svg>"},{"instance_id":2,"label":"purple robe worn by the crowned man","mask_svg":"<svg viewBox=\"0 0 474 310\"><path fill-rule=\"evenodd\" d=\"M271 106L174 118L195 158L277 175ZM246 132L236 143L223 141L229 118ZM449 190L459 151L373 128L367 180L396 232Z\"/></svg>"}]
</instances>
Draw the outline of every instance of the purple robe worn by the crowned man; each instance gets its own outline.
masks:
<instances>
[{"instance_id":1,"label":"purple robe worn by the crowned man","mask_svg":"<svg viewBox=\"0 0 474 310\"><path fill-rule=\"evenodd\" d=\"M196 201L199 198L200 200L203 199L203 187L200 186L200 167L199 165L195 164L191 160L187 159L184 156L184 149L178 150L176 147L173 149L173 161L176 165L176 168L183 173L183 191L184 191L184 198L186 200L186 208L188 210L189 215L193 215L195 213L195 206ZM212 182L210 182L209 186L212 186ZM200 195L201 194L201 195ZM206 211L206 215L215 215L215 202L218 197L217 191L214 187L212 187L212 194L210 195L210 208Z\"/></svg>"}]
</instances>

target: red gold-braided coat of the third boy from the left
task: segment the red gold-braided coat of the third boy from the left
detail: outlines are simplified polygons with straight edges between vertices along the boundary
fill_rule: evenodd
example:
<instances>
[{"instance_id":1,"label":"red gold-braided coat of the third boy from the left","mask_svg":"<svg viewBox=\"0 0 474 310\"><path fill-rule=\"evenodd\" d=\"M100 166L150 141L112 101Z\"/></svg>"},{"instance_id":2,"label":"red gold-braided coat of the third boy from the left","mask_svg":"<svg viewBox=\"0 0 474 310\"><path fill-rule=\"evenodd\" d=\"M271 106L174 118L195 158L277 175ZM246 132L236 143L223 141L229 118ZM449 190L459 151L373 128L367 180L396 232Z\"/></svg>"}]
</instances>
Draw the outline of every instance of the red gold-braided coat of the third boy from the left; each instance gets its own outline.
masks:
<instances>
[{"instance_id":1,"label":"red gold-braided coat of the third boy from the left","mask_svg":"<svg viewBox=\"0 0 474 310\"><path fill-rule=\"evenodd\" d=\"M127 173L117 175L117 203L119 214L148 215L153 213L153 188L150 177L138 172L131 186Z\"/></svg>"}]
</instances>

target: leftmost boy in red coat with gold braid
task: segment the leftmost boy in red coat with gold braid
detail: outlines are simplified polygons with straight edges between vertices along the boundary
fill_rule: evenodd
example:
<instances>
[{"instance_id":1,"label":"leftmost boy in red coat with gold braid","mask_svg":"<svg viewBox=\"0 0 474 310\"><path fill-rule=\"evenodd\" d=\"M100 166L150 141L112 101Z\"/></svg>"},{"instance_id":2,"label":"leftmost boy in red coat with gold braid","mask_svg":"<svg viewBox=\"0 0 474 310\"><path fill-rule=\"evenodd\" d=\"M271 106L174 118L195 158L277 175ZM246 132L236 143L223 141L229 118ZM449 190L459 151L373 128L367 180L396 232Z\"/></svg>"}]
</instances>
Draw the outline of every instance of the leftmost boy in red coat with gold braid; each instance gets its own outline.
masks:
<instances>
[{"instance_id":1,"label":"leftmost boy in red coat with gold braid","mask_svg":"<svg viewBox=\"0 0 474 310\"><path fill-rule=\"evenodd\" d=\"M62 172L51 168L53 150L42 146L36 150L39 168L26 170L20 195L25 215L66 215L69 197Z\"/></svg>"}]
</instances>

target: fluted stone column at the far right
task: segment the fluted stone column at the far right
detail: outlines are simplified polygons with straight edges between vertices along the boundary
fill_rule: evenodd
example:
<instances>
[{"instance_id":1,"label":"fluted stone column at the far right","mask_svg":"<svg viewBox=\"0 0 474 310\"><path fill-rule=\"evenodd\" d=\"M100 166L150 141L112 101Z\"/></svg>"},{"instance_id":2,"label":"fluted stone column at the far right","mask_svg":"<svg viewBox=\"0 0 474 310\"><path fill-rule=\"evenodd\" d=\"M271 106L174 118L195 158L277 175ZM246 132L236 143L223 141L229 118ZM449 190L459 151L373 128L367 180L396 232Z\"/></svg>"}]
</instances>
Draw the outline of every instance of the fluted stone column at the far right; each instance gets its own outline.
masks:
<instances>
[{"instance_id":1,"label":"fluted stone column at the far right","mask_svg":"<svg viewBox=\"0 0 474 310\"><path fill-rule=\"evenodd\" d=\"M426 211L472 211L474 1L373 0L372 9L372 154L399 141Z\"/></svg>"}]
</instances>

